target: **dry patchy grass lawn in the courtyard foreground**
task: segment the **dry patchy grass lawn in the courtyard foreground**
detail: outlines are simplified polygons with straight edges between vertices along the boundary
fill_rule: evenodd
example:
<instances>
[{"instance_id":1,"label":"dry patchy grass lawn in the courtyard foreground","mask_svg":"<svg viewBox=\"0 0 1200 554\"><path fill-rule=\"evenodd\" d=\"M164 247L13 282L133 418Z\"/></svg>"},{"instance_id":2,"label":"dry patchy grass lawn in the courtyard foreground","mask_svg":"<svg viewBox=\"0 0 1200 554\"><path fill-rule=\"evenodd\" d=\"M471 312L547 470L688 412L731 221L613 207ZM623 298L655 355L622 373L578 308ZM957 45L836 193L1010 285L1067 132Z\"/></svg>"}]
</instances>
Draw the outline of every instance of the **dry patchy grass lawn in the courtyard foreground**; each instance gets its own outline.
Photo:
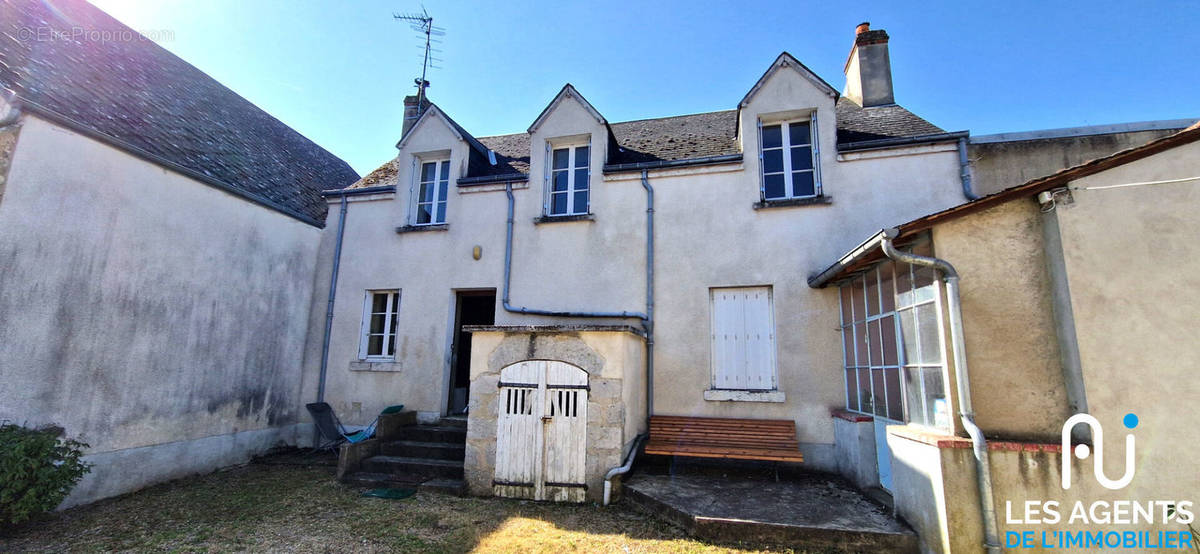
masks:
<instances>
[{"instance_id":1,"label":"dry patchy grass lawn in the courtyard foreground","mask_svg":"<svg viewBox=\"0 0 1200 554\"><path fill-rule=\"evenodd\" d=\"M252 464L0 530L0 552L761 550L700 542L622 505L605 508L434 493L383 500L360 493L336 483L330 468Z\"/></svg>"}]
</instances>

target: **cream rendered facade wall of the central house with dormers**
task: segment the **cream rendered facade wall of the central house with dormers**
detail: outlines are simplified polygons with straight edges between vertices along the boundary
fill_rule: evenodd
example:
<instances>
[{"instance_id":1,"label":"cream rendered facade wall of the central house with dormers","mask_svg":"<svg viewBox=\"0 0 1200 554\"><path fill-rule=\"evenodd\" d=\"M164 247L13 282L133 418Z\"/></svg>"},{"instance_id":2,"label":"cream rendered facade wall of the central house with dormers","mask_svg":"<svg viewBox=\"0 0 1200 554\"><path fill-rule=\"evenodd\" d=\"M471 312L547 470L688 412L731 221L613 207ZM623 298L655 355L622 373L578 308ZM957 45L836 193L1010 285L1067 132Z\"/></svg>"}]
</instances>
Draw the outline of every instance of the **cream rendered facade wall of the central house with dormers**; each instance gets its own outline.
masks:
<instances>
[{"instance_id":1,"label":"cream rendered facade wall of the central house with dormers","mask_svg":"<svg viewBox=\"0 0 1200 554\"><path fill-rule=\"evenodd\" d=\"M598 107L604 112L604 107ZM758 200L760 115L817 109L824 192L832 204L755 210ZM769 115L768 115L769 116ZM779 417L797 422L810 465L834 468L829 409L845 403L838 296L805 283L817 271L883 225L962 201L954 144L839 156L834 100L793 68L774 73L743 110L742 138L751 152L742 164L650 171L655 189L655 398L656 414ZM440 413L449 360L452 289L503 288L505 194L503 186L451 183L448 230L406 233L412 156L450 149L449 128L434 120L418 127L400 152L394 198L352 201L338 281L330 356L329 399L361 405L361 417L390 403ZM433 125L436 124L436 125ZM552 110L532 137L532 179L518 183L514 223L511 302L542 309L644 311L646 193L637 173L602 175L605 128L572 98ZM594 221L534 224L542 212L546 139L590 133ZM464 147L464 146L463 146ZM461 167L457 158L454 165ZM482 192L475 192L482 189ZM335 206L336 207L336 206ZM334 211L331 211L332 213ZM330 216L322 264L332 252ZM470 259L473 246L482 259ZM328 265L318 270L318 290ZM784 403L710 402L709 288L770 285ZM347 371L355 359L362 294L402 288L397 373ZM499 299L498 299L499 300ZM324 294L314 306L324 307ZM316 321L313 325L319 325ZM506 313L497 324L566 323ZM586 323L586 321L575 321ZM592 321L594 323L594 321ZM613 321L610 321L613 323ZM620 321L617 321L620 323ZM636 324L637 321L624 321ZM319 326L314 327L319 331ZM319 332L317 333L319 336ZM308 374L318 355L310 347ZM666 385L670 384L670 385ZM314 391L308 387L307 391ZM306 392L306 397L310 396Z\"/></svg>"}]
</instances>

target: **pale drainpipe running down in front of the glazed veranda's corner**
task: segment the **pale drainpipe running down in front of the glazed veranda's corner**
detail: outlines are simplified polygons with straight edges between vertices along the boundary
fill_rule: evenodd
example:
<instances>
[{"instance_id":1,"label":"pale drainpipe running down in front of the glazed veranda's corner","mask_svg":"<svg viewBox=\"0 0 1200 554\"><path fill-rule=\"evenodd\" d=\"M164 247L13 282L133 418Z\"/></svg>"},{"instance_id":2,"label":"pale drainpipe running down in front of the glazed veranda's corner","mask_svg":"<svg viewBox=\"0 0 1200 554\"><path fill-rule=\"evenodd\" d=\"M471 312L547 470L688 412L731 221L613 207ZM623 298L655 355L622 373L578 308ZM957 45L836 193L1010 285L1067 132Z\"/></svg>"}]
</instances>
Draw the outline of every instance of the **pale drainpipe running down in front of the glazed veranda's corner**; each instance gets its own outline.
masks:
<instances>
[{"instance_id":1,"label":"pale drainpipe running down in front of the glazed veranda's corner","mask_svg":"<svg viewBox=\"0 0 1200 554\"><path fill-rule=\"evenodd\" d=\"M983 429L974 422L974 409L971 405L971 381L967 372L967 353L962 339L962 306L959 303L959 273L949 261L938 258L910 254L895 249L892 241L900 235L896 229L883 233L881 245L883 253L895 261L932 267L946 282L947 311L950 315L950 348L954 355L954 378L958 381L959 418L971 435L976 458L976 486L979 488L979 514L983 518L984 548L989 553L998 553L1000 526L996 524L996 505L991 490L991 466L988 459L988 439Z\"/></svg>"}]
</instances>

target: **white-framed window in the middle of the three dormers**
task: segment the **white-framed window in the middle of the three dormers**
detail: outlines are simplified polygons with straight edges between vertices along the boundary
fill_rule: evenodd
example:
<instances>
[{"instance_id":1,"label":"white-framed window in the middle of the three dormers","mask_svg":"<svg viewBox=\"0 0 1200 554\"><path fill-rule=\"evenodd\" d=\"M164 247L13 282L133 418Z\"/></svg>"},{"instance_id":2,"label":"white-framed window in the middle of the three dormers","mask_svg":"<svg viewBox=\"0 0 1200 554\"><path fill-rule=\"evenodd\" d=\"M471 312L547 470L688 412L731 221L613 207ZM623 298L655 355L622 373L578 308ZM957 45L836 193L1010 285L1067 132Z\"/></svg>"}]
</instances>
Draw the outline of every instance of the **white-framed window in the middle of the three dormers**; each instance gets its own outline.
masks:
<instances>
[{"instance_id":1,"label":"white-framed window in the middle of the three dormers","mask_svg":"<svg viewBox=\"0 0 1200 554\"><path fill-rule=\"evenodd\" d=\"M547 217L592 213L592 140L546 141Z\"/></svg>"}]
</instances>

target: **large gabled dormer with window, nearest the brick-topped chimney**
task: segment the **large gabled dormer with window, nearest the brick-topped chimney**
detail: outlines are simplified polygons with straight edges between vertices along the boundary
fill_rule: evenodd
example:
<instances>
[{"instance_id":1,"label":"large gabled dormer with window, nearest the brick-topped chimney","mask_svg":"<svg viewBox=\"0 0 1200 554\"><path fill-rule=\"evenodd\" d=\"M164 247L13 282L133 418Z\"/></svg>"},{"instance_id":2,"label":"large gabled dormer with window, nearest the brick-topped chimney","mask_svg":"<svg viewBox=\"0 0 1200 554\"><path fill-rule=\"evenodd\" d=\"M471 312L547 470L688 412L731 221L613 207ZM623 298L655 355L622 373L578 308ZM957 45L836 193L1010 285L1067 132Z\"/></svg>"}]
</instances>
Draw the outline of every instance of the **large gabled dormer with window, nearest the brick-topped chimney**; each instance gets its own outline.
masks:
<instances>
[{"instance_id":1,"label":"large gabled dormer with window, nearest the brick-topped chimney","mask_svg":"<svg viewBox=\"0 0 1200 554\"><path fill-rule=\"evenodd\" d=\"M833 163L838 90L782 53L738 103L738 139L764 201L823 195Z\"/></svg>"}]
</instances>

